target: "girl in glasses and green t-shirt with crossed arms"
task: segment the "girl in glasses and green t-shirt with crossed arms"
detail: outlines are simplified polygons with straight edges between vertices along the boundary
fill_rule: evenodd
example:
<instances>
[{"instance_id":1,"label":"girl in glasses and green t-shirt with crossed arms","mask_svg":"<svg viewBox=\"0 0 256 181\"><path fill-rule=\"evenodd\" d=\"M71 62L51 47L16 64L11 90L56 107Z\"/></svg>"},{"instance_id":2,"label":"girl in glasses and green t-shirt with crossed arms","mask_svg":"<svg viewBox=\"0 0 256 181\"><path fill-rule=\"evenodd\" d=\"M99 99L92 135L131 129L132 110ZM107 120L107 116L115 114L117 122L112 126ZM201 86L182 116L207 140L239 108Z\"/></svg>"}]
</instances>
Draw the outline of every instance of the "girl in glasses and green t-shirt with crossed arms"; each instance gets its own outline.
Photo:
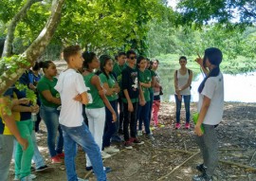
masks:
<instances>
[{"instance_id":1,"label":"girl in glasses and green t-shirt with crossed arms","mask_svg":"<svg viewBox=\"0 0 256 181\"><path fill-rule=\"evenodd\" d=\"M103 88L106 90L106 98L109 100L110 105L118 115L118 94L119 94L119 83L116 81L116 78L112 74L113 70L113 61L108 55L101 55L101 74L100 79L103 83ZM115 120L112 118L111 111L105 107L106 118L105 118L105 129L103 134L103 144L102 150L107 154L115 154L119 152L119 149L116 149L113 146L110 146L110 139L119 128L119 125L116 124Z\"/></svg>"}]
</instances>

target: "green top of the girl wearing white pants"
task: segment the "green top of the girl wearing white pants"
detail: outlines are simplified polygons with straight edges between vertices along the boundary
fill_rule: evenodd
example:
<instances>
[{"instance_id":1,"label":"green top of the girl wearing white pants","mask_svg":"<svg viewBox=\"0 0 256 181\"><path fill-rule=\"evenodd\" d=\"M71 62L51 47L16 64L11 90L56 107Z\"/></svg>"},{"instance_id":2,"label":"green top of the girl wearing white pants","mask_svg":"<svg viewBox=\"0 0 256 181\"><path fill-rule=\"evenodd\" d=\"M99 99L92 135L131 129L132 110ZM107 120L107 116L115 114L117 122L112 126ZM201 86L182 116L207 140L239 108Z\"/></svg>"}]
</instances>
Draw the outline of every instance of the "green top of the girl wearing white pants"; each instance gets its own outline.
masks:
<instances>
[{"instance_id":1,"label":"green top of the girl wearing white pants","mask_svg":"<svg viewBox=\"0 0 256 181\"><path fill-rule=\"evenodd\" d=\"M83 81L88 88L87 95L89 97L89 103L85 105L87 109L97 109L105 106L97 87L91 83L93 76L95 76L94 73L83 76Z\"/></svg>"}]
</instances>

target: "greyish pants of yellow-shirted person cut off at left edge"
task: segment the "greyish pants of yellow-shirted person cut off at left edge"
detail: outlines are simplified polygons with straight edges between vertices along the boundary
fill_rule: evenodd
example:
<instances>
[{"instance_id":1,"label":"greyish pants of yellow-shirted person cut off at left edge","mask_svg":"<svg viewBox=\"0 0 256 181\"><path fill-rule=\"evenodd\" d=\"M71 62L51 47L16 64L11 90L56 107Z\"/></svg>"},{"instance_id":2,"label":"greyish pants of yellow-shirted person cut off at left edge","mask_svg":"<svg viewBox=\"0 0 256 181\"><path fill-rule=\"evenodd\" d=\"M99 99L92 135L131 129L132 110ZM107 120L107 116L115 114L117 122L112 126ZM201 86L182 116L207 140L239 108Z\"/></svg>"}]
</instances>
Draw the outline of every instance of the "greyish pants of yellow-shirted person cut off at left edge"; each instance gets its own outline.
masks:
<instances>
[{"instance_id":1,"label":"greyish pants of yellow-shirted person cut off at left edge","mask_svg":"<svg viewBox=\"0 0 256 181\"><path fill-rule=\"evenodd\" d=\"M0 135L0 180L9 180L9 165L13 151L14 136Z\"/></svg>"}]
</instances>

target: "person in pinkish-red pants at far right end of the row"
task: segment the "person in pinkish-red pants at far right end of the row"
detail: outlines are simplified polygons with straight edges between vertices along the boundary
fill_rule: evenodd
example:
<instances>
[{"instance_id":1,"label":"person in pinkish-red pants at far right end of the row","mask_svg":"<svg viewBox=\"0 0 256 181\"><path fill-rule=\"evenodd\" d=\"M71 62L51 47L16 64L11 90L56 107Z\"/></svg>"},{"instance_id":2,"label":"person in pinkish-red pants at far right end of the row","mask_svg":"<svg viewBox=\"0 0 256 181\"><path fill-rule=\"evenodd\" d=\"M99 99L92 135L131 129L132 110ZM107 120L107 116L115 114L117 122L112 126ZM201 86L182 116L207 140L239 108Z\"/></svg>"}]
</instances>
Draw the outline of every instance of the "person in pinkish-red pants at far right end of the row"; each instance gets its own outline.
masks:
<instances>
[{"instance_id":1,"label":"person in pinkish-red pants at far right end of the row","mask_svg":"<svg viewBox=\"0 0 256 181\"><path fill-rule=\"evenodd\" d=\"M152 65L152 70L155 72L155 83L154 83L154 100L153 100L153 120L154 120L154 126L157 127L159 126L159 122L158 122L158 112L160 109L160 93L161 93L161 89L162 86L160 84L160 76L157 73L157 68L159 65L159 61L158 60L154 60L153 61L153 65Z\"/></svg>"}]
</instances>

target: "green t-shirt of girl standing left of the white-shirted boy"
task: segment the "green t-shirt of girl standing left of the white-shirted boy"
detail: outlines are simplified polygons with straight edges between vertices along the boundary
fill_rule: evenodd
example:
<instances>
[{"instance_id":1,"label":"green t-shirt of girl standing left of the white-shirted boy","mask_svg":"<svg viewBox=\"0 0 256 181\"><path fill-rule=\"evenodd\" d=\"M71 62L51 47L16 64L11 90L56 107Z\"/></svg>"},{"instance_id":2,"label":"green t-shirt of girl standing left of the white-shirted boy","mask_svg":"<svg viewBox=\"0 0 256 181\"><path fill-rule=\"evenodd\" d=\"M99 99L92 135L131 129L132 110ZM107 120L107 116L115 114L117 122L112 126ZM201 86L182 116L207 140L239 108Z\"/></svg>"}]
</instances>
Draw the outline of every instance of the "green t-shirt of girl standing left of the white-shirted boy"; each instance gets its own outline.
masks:
<instances>
[{"instance_id":1,"label":"green t-shirt of girl standing left of the white-shirted boy","mask_svg":"<svg viewBox=\"0 0 256 181\"><path fill-rule=\"evenodd\" d=\"M46 98L43 96L42 92L45 90L49 90L52 97L55 98L60 98L60 94L58 93L57 90L54 89L56 83L57 83L57 79L53 78L53 80L48 80L45 76L42 77L42 79L40 81L38 81L37 84L37 90L39 93L39 98L42 101L43 105L46 105L47 107L58 107L59 104L55 104L52 102L49 102L48 100L46 100Z\"/></svg>"}]
</instances>

